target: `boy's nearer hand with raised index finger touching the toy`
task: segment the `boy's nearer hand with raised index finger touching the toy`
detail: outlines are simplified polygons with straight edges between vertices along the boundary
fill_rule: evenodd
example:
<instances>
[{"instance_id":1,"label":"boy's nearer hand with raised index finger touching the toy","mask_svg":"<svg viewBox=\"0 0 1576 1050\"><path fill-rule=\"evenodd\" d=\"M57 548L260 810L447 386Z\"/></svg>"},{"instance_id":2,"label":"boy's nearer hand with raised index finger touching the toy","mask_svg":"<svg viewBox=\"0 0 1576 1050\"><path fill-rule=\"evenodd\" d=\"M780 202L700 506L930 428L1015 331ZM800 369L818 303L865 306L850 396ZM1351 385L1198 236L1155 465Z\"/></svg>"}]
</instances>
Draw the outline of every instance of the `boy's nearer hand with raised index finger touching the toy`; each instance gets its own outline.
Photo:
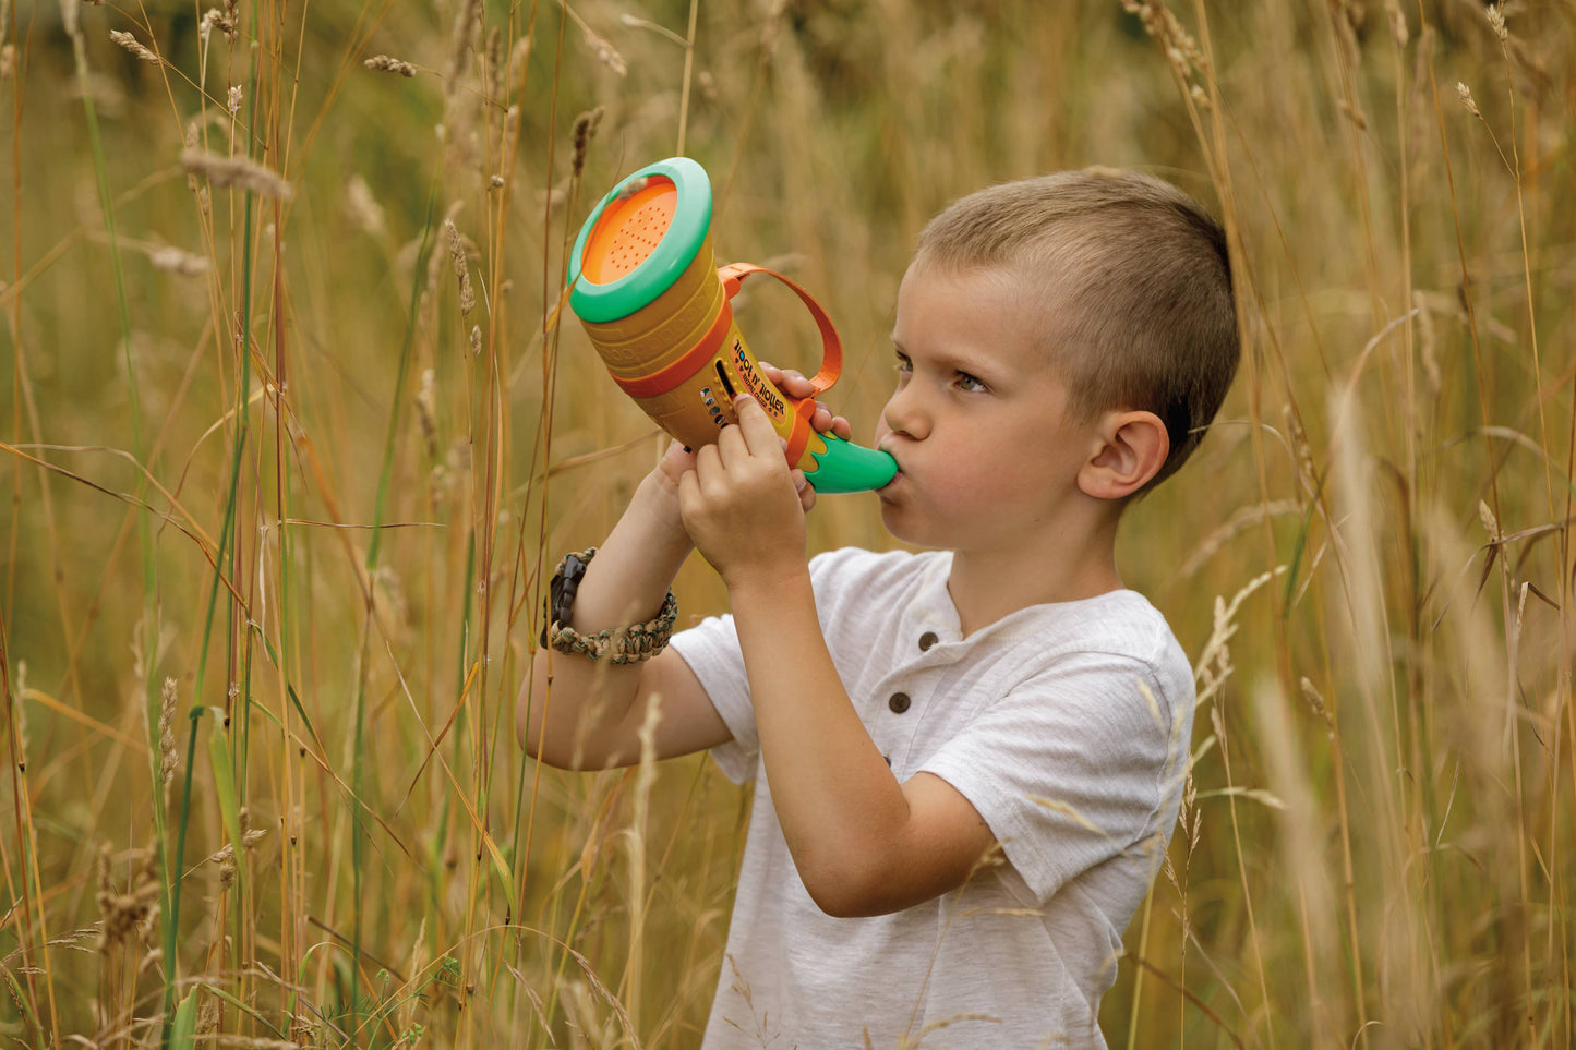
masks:
<instances>
[{"instance_id":1,"label":"boy's nearer hand with raised index finger touching the toy","mask_svg":"<svg viewBox=\"0 0 1576 1050\"><path fill-rule=\"evenodd\" d=\"M804 471L788 470L766 410L739 394L733 411L738 426L700 448L695 470L679 479L684 528L730 588L752 572L779 574L804 563L808 487Z\"/></svg>"}]
</instances>

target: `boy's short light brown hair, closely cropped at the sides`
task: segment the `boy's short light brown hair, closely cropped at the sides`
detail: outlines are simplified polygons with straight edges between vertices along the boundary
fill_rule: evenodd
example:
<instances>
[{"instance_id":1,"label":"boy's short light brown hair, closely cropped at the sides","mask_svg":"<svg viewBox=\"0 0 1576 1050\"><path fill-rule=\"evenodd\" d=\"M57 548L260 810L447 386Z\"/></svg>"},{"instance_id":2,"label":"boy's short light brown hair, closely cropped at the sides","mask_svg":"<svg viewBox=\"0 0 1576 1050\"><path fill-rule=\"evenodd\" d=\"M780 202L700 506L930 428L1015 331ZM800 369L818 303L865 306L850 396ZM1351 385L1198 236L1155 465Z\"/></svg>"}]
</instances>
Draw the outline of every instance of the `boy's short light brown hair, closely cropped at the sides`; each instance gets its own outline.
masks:
<instances>
[{"instance_id":1,"label":"boy's short light brown hair, closely cropped at the sides","mask_svg":"<svg viewBox=\"0 0 1576 1050\"><path fill-rule=\"evenodd\" d=\"M1193 454L1237 372L1226 235L1160 178L1091 167L990 186L925 225L914 265L1021 273L1070 411L1165 423L1171 452L1141 492Z\"/></svg>"}]
</instances>

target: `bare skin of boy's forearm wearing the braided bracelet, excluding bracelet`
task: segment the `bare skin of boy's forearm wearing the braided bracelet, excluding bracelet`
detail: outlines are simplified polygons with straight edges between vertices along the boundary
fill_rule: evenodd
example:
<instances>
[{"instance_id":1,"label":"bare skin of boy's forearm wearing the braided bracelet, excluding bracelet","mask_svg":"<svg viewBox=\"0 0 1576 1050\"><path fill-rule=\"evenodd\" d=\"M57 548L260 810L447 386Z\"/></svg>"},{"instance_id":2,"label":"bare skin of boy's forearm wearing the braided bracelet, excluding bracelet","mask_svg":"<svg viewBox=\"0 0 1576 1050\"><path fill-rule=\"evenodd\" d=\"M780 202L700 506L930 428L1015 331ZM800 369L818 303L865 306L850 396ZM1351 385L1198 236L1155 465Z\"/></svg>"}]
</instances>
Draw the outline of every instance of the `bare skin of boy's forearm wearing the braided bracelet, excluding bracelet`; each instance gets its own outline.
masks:
<instances>
[{"instance_id":1,"label":"bare skin of boy's forearm wearing the braided bracelet, excluding bracelet","mask_svg":"<svg viewBox=\"0 0 1576 1050\"><path fill-rule=\"evenodd\" d=\"M657 615L690 552L676 493L660 473L637 489L624 516L575 593L569 626L580 634L641 623ZM526 750L556 766L605 765L646 664L611 664L537 650L522 687L519 725Z\"/></svg>"}]
</instances>

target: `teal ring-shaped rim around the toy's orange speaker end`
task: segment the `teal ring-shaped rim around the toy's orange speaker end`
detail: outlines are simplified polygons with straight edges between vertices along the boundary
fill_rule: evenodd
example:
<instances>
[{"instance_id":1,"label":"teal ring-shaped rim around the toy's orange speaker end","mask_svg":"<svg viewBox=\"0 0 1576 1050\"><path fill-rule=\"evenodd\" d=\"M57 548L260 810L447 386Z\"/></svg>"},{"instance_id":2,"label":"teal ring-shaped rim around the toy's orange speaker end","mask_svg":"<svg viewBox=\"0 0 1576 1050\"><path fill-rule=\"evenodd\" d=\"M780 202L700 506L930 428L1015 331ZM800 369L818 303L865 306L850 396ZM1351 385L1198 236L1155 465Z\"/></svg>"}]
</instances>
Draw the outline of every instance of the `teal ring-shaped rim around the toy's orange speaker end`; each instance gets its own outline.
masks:
<instances>
[{"instance_id":1,"label":"teal ring-shaped rim around the toy's orange speaker end","mask_svg":"<svg viewBox=\"0 0 1576 1050\"><path fill-rule=\"evenodd\" d=\"M602 213L610 203L630 191L638 180L660 177L673 183L678 191L678 202L673 208L673 221L662 241L651 251L638 266L618 281L597 284L580 274L580 259L586 241L596 232ZM569 306L580 320L591 323L615 322L629 317L635 311L649 304L668 290L679 274L695 260L695 252L706 240L711 229L711 180L706 169L687 156L675 156L657 161L640 169L602 197L591 218L580 227L575 238L575 251L569 257L569 273L574 274L574 290L569 293Z\"/></svg>"}]
</instances>

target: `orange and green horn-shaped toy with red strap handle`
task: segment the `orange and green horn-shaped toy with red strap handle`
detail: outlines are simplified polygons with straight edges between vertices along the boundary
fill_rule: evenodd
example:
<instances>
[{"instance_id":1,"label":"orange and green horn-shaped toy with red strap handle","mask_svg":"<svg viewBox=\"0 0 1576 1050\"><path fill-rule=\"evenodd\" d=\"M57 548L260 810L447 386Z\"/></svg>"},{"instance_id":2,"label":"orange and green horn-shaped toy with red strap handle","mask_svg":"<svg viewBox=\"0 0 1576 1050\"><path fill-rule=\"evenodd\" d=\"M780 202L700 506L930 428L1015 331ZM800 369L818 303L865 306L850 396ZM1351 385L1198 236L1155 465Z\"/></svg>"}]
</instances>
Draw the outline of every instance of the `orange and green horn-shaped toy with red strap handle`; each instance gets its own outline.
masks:
<instances>
[{"instance_id":1,"label":"orange and green horn-shaped toy with red strap handle","mask_svg":"<svg viewBox=\"0 0 1576 1050\"><path fill-rule=\"evenodd\" d=\"M607 370L657 426L689 448L736 423L733 397L749 393L788 443L788 465L816 492L867 492L892 481L897 462L810 426L815 397L837 382L843 344L826 311L797 284L752 263L717 268L711 249L711 181L687 158L643 167L602 199L580 229L569 306ZM788 397L761 372L739 334L733 296L764 273L786 284L821 330L815 394Z\"/></svg>"}]
</instances>

